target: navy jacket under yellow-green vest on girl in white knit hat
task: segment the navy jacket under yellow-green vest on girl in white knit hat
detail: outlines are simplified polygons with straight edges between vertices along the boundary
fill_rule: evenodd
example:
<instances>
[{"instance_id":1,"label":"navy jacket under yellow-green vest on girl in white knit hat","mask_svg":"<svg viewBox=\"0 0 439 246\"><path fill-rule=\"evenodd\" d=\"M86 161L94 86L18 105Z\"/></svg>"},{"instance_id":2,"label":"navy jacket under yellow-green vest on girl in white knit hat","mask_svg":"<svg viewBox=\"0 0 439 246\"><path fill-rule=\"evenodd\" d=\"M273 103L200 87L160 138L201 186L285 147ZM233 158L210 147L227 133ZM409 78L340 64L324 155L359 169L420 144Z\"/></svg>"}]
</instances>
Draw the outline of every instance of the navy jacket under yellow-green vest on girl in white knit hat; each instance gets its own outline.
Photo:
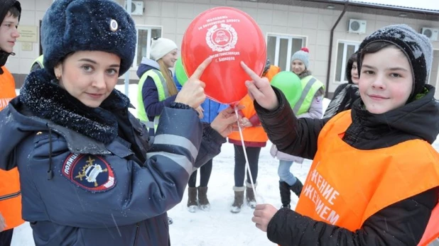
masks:
<instances>
[{"instance_id":1,"label":"navy jacket under yellow-green vest on girl in white knit hat","mask_svg":"<svg viewBox=\"0 0 439 246\"><path fill-rule=\"evenodd\" d=\"M139 65L139 68L137 69L137 76L140 79L146 71L151 69L160 70L160 67L156 61L143 57L141 65ZM175 97L177 97L177 95L169 96L163 101L158 101L157 86L151 77L146 78L141 89L143 106L145 106L146 115L148 116L149 121L154 121L154 117L160 116L163 108L170 106L170 104L175 101Z\"/></svg>"}]
</instances>

